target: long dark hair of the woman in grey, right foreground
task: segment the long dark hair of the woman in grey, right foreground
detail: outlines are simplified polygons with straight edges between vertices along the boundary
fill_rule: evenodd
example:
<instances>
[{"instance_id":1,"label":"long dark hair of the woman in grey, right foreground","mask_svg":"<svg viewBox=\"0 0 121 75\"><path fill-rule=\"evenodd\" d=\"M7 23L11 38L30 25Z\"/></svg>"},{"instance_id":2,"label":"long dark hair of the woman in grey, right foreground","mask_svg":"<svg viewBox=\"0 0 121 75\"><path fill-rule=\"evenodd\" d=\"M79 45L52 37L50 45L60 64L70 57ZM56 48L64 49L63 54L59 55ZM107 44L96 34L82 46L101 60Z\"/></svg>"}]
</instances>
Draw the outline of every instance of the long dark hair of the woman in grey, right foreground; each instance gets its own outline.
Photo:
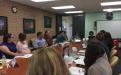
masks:
<instances>
[{"instance_id":1,"label":"long dark hair of the woman in grey, right foreground","mask_svg":"<svg viewBox=\"0 0 121 75\"><path fill-rule=\"evenodd\" d=\"M104 55L104 49L101 46L100 41L98 40L91 40L86 48L85 52L85 69L86 71L88 68L93 65L96 60Z\"/></svg>"}]
</instances>

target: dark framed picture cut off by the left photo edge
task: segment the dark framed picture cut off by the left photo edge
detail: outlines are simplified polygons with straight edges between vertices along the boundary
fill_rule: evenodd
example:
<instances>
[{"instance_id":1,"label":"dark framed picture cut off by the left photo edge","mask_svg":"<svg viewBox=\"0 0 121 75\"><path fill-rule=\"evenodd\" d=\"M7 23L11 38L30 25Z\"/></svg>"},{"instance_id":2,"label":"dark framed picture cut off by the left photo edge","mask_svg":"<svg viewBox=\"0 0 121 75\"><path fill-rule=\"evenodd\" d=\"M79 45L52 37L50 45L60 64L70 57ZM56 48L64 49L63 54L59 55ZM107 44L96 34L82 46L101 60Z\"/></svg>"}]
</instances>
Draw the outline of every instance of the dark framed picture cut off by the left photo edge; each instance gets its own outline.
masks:
<instances>
[{"instance_id":1,"label":"dark framed picture cut off by the left photo edge","mask_svg":"<svg viewBox=\"0 0 121 75\"><path fill-rule=\"evenodd\" d=\"M8 33L8 18L0 16L0 35Z\"/></svg>"}]
</instances>

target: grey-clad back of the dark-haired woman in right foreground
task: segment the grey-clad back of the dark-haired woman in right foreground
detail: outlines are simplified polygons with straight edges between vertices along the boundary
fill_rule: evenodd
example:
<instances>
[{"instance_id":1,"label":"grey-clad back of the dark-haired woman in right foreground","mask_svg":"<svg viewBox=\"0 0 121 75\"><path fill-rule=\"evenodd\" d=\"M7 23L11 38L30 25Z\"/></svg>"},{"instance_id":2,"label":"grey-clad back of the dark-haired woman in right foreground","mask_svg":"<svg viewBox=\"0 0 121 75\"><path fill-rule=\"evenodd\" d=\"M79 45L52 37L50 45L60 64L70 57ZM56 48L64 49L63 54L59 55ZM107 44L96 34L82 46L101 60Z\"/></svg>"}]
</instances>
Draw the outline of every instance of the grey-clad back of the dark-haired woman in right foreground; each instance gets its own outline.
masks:
<instances>
[{"instance_id":1,"label":"grey-clad back of the dark-haired woman in right foreground","mask_svg":"<svg viewBox=\"0 0 121 75\"><path fill-rule=\"evenodd\" d=\"M112 75L111 66L104 57L100 57L88 69L88 75Z\"/></svg>"}]
</instances>

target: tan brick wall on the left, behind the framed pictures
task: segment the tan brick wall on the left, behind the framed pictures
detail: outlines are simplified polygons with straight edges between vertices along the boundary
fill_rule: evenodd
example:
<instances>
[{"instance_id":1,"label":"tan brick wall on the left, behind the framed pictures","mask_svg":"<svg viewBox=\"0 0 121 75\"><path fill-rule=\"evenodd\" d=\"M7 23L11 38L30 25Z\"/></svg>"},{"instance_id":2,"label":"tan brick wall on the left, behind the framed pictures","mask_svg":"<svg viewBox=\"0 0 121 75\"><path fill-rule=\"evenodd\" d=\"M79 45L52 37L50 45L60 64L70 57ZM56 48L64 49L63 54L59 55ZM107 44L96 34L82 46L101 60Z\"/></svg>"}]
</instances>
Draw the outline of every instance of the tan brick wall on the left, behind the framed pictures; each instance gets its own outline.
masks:
<instances>
[{"instance_id":1,"label":"tan brick wall on the left, behind the framed pictures","mask_svg":"<svg viewBox=\"0 0 121 75\"><path fill-rule=\"evenodd\" d=\"M17 13L11 12L11 7L17 7ZM8 17L8 32L15 34L15 39L20 32L23 32L23 18L32 18L36 20L36 32L45 30L50 30L52 34L55 34L55 13L44 11L38 8L26 6L23 4L11 2L10 0L0 0L0 16ZM52 27L44 28L44 16L52 17ZM33 38L36 36L36 33L27 34L27 38ZM2 40L2 36L0 36Z\"/></svg>"}]
</instances>

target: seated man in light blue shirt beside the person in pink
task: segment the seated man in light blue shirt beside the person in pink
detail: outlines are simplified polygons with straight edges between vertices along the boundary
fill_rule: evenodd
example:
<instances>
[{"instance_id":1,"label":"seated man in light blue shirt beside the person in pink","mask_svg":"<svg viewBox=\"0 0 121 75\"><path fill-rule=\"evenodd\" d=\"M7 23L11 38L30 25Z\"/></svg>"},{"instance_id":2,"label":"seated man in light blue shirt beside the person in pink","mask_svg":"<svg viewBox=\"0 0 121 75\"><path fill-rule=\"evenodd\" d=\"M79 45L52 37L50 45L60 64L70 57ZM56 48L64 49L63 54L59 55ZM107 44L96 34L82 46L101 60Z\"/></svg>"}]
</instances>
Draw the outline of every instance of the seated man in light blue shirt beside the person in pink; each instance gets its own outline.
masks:
<instances>
[{"instance_id":1,"label":"seated man in light blue shirt beside the person in pink","mask_svg":"<svg viewBox=\"0 0 121 75\"><path fill-rule=\"evenodd\" d=\"M37 33L37 39L34 42L34 48L46 47L47 42L42 36L42 32Z\"/></svg>"}]
</instances>

